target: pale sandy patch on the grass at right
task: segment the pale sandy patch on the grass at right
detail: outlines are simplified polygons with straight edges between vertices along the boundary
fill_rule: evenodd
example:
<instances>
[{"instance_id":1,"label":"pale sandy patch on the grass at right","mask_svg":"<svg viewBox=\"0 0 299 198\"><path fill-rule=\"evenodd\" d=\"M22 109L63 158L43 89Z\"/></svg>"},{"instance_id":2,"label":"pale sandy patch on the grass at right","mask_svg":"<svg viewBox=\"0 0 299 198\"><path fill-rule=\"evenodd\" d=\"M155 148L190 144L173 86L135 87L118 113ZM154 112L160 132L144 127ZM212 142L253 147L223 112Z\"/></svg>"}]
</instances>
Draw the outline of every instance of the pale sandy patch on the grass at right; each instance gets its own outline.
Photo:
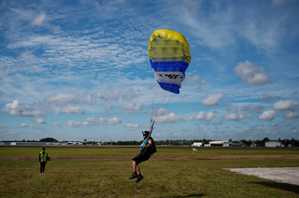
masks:
<instances>
[{"instance_id":1,"label":"pale sandy patch on the grass at right","mask_svg":"<svg viewBox=\"0 0 299 198\"><path fill-rule=\"evenodd\" d=\"M299 167L226 169L241 174L299 185Z\"/></svg>"}]
</instances>

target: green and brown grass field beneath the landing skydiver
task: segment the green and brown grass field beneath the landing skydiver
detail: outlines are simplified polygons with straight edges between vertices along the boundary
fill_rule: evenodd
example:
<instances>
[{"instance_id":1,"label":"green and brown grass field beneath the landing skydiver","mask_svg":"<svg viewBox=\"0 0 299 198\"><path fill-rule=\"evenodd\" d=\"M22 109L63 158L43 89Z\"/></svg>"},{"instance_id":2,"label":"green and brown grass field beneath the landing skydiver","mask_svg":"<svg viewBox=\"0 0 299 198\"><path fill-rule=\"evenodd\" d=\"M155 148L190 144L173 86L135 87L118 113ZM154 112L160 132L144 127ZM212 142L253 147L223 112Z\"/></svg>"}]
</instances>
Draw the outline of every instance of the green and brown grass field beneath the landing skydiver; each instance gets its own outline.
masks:
<instances>
[{"instance_id":1,"label":"green and brown grass field beneath the landing skydiver","mask_svg":"<svg viewBox=\"0 0 299 198\"><path fill-rule=\"evenodd\" d=\"M136 146L0 147L0 197L299 197L299 186L224 168L298 167L299 148L159 146L129 180Z\"/></svg>"}]
</instances>

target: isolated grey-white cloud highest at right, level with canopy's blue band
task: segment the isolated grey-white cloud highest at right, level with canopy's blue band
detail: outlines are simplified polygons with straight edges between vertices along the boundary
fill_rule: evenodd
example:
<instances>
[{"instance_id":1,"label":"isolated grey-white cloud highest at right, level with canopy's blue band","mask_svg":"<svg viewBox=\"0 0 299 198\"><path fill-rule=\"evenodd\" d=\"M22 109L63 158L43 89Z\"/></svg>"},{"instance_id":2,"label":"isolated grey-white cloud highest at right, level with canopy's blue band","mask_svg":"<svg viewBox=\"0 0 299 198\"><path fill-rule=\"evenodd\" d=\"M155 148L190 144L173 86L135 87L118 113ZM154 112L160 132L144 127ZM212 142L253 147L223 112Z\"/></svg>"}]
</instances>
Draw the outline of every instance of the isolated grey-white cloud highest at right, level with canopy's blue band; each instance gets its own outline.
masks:
<instances>
[{"instance_id":1,"label":"isolated grey-white cloud highest at right, level with canopy's blue band","mask_svg":"<svg viewBox=\"0 0 299 198\"><path fill-rule=\"evenodd\" d=\"M235 68L234 73L239 76L243 81L262 85L270 82L270 79L265 74L264 68L256 66L246 60L244 63L240 62Z\"/></svg>"}]
</instances>

